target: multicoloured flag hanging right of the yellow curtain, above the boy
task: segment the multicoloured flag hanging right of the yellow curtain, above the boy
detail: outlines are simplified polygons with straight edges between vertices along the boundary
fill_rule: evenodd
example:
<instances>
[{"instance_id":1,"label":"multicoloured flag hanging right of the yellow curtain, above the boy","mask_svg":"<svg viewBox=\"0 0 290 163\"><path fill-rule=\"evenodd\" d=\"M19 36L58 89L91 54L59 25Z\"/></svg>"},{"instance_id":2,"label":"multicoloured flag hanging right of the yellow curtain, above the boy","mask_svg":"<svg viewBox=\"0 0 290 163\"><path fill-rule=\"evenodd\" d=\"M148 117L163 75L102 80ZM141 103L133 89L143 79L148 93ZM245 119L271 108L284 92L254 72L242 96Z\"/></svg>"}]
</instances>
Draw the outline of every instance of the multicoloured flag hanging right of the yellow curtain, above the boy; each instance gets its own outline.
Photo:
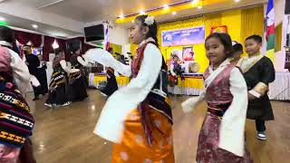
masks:
<instances>
[{"instance_id":1,"label":"multicoloured flag hanging right of the yellow curtain, above the boy","mask_svg":"<svg viewBox=\"0 0 290 163\"><path fill-rule=\"evenodd\" d=\"M275 59L275 14L274 0L268 0L266 9L266 56L274 62Z\"/></svg>"}]
</instances>

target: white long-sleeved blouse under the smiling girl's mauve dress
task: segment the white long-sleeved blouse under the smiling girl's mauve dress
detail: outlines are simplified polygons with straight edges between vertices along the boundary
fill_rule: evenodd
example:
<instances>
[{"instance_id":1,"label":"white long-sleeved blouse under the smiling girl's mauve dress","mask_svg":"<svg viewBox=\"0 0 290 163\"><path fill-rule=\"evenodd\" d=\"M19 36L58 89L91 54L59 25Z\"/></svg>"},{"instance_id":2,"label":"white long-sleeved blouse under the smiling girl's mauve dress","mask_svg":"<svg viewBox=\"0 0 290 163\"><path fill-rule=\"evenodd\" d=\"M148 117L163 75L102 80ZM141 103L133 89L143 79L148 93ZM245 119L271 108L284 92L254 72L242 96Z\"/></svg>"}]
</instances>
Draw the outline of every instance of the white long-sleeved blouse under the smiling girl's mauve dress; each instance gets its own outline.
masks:
<instances>
[{"instance_id":1,"label":"white long-sleeved blouse under the smiling girl's mauve dress","mask_svg":"<svg viewBox=\"0 0 290 163\"><path fill-rule=\"evenodd\" d=\"M209 85L222 72L229 60L223 62L216 71L209 68L210 76L205 81L205 85ZM245 151L245 124L247 119L247 83L242 73L234 68L230 73L230 92L233 95L233 101L225 112L221 125L219 127L218 147L243 157ZM181 106L185 112L194 110L197 105L206 97L207 88L199 97L190 98L184 101Z\"/></svg>"}]
</instances>

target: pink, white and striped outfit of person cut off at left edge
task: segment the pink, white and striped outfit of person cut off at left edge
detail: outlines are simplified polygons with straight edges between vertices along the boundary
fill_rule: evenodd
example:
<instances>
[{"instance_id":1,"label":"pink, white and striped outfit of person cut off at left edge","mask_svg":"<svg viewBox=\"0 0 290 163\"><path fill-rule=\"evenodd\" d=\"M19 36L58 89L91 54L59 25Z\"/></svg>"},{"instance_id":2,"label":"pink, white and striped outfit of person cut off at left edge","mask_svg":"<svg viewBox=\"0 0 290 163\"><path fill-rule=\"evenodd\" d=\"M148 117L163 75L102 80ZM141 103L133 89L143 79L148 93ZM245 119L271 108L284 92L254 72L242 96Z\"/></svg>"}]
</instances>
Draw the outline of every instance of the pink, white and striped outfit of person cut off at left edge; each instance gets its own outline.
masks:
<instances>
[{"instance_id":1,"label":"pink, white and striped outfit of person cut off at left edge","mask_svg":"<svg viewBox=\"0 0 290 163\"><path fill-rule=\"evenodd\" d=\"M0 162L16 163L20 149L34 128L34 117L14 79L30 81L27 66L17 53L0 46Z\"/></svg>"}]
</instances>

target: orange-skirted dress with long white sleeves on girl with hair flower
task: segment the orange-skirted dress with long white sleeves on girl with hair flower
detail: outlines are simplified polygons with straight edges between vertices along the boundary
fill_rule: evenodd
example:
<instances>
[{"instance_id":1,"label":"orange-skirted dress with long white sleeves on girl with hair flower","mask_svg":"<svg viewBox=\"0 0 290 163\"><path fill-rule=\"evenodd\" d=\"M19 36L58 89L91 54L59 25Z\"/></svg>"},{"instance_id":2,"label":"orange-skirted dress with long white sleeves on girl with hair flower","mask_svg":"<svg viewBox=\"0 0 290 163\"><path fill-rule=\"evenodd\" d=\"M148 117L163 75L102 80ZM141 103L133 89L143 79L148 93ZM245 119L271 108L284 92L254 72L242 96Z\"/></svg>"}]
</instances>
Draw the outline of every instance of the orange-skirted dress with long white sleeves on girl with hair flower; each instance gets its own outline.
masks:
<instances>
[{"instance_id":1,"label":"orange-skirted dress with long white sleeves on girl with hair flower","mask_svg":"<svg viewBox=\"0 0 290 163\"><path fill-rule=\"evenodd\" d=\"M140 43L137 52L131 67L105 52L106 59L95 60L131 76L131 82L108 99L94 133L115 142L113 163L172 163L172 116L166 89L166 64L152 38ZM101 54L101 50L92 50L84 58Z\"/></svg>"}]
</instances>

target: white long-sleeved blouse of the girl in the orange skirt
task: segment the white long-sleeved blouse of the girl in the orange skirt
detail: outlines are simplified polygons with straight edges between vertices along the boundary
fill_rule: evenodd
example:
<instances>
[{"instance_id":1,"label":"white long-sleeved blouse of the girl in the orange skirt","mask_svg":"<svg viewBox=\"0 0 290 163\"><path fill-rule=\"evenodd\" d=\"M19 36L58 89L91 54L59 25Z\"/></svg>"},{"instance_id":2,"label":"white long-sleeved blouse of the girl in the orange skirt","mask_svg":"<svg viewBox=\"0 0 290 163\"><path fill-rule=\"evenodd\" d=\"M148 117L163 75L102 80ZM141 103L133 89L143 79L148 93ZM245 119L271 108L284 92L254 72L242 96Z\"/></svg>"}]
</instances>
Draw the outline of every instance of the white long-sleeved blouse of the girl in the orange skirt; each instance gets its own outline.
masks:
<instances>
[{"instance_id":1,"label":"white long-sleeved blouse of the girl in the orange skirt","mask_svg":"<svg viewBox=\"0 0 290 163\"><path fill-rule=\"evenodd\" d=\"M140 43L140 46L150 41L154 40L152 38L145 40ZM108 53L102 52L100 49L94 52L95 53L87 53L88 55L92 54L95 57L97 56L94 62L98 60L100 63L105 64L105 66L111 67L123 75L131 76L130 66L116 61L113 57L107 57ZM104 55L106 59L102 60L101 55ZM90 56L84 56L84 58L92 59ZM141 62L140 71L137 77L132 79L126 87L115 91L108 99L93 131L95 134L115 143L121 142L121 135L124 130L124 120L126 120L132 110L138 107L141 101L145 100L158 79L161 65L162 54L159 48L149 43L145 48L143 61Z\"/></svg>"}]
</instances>

